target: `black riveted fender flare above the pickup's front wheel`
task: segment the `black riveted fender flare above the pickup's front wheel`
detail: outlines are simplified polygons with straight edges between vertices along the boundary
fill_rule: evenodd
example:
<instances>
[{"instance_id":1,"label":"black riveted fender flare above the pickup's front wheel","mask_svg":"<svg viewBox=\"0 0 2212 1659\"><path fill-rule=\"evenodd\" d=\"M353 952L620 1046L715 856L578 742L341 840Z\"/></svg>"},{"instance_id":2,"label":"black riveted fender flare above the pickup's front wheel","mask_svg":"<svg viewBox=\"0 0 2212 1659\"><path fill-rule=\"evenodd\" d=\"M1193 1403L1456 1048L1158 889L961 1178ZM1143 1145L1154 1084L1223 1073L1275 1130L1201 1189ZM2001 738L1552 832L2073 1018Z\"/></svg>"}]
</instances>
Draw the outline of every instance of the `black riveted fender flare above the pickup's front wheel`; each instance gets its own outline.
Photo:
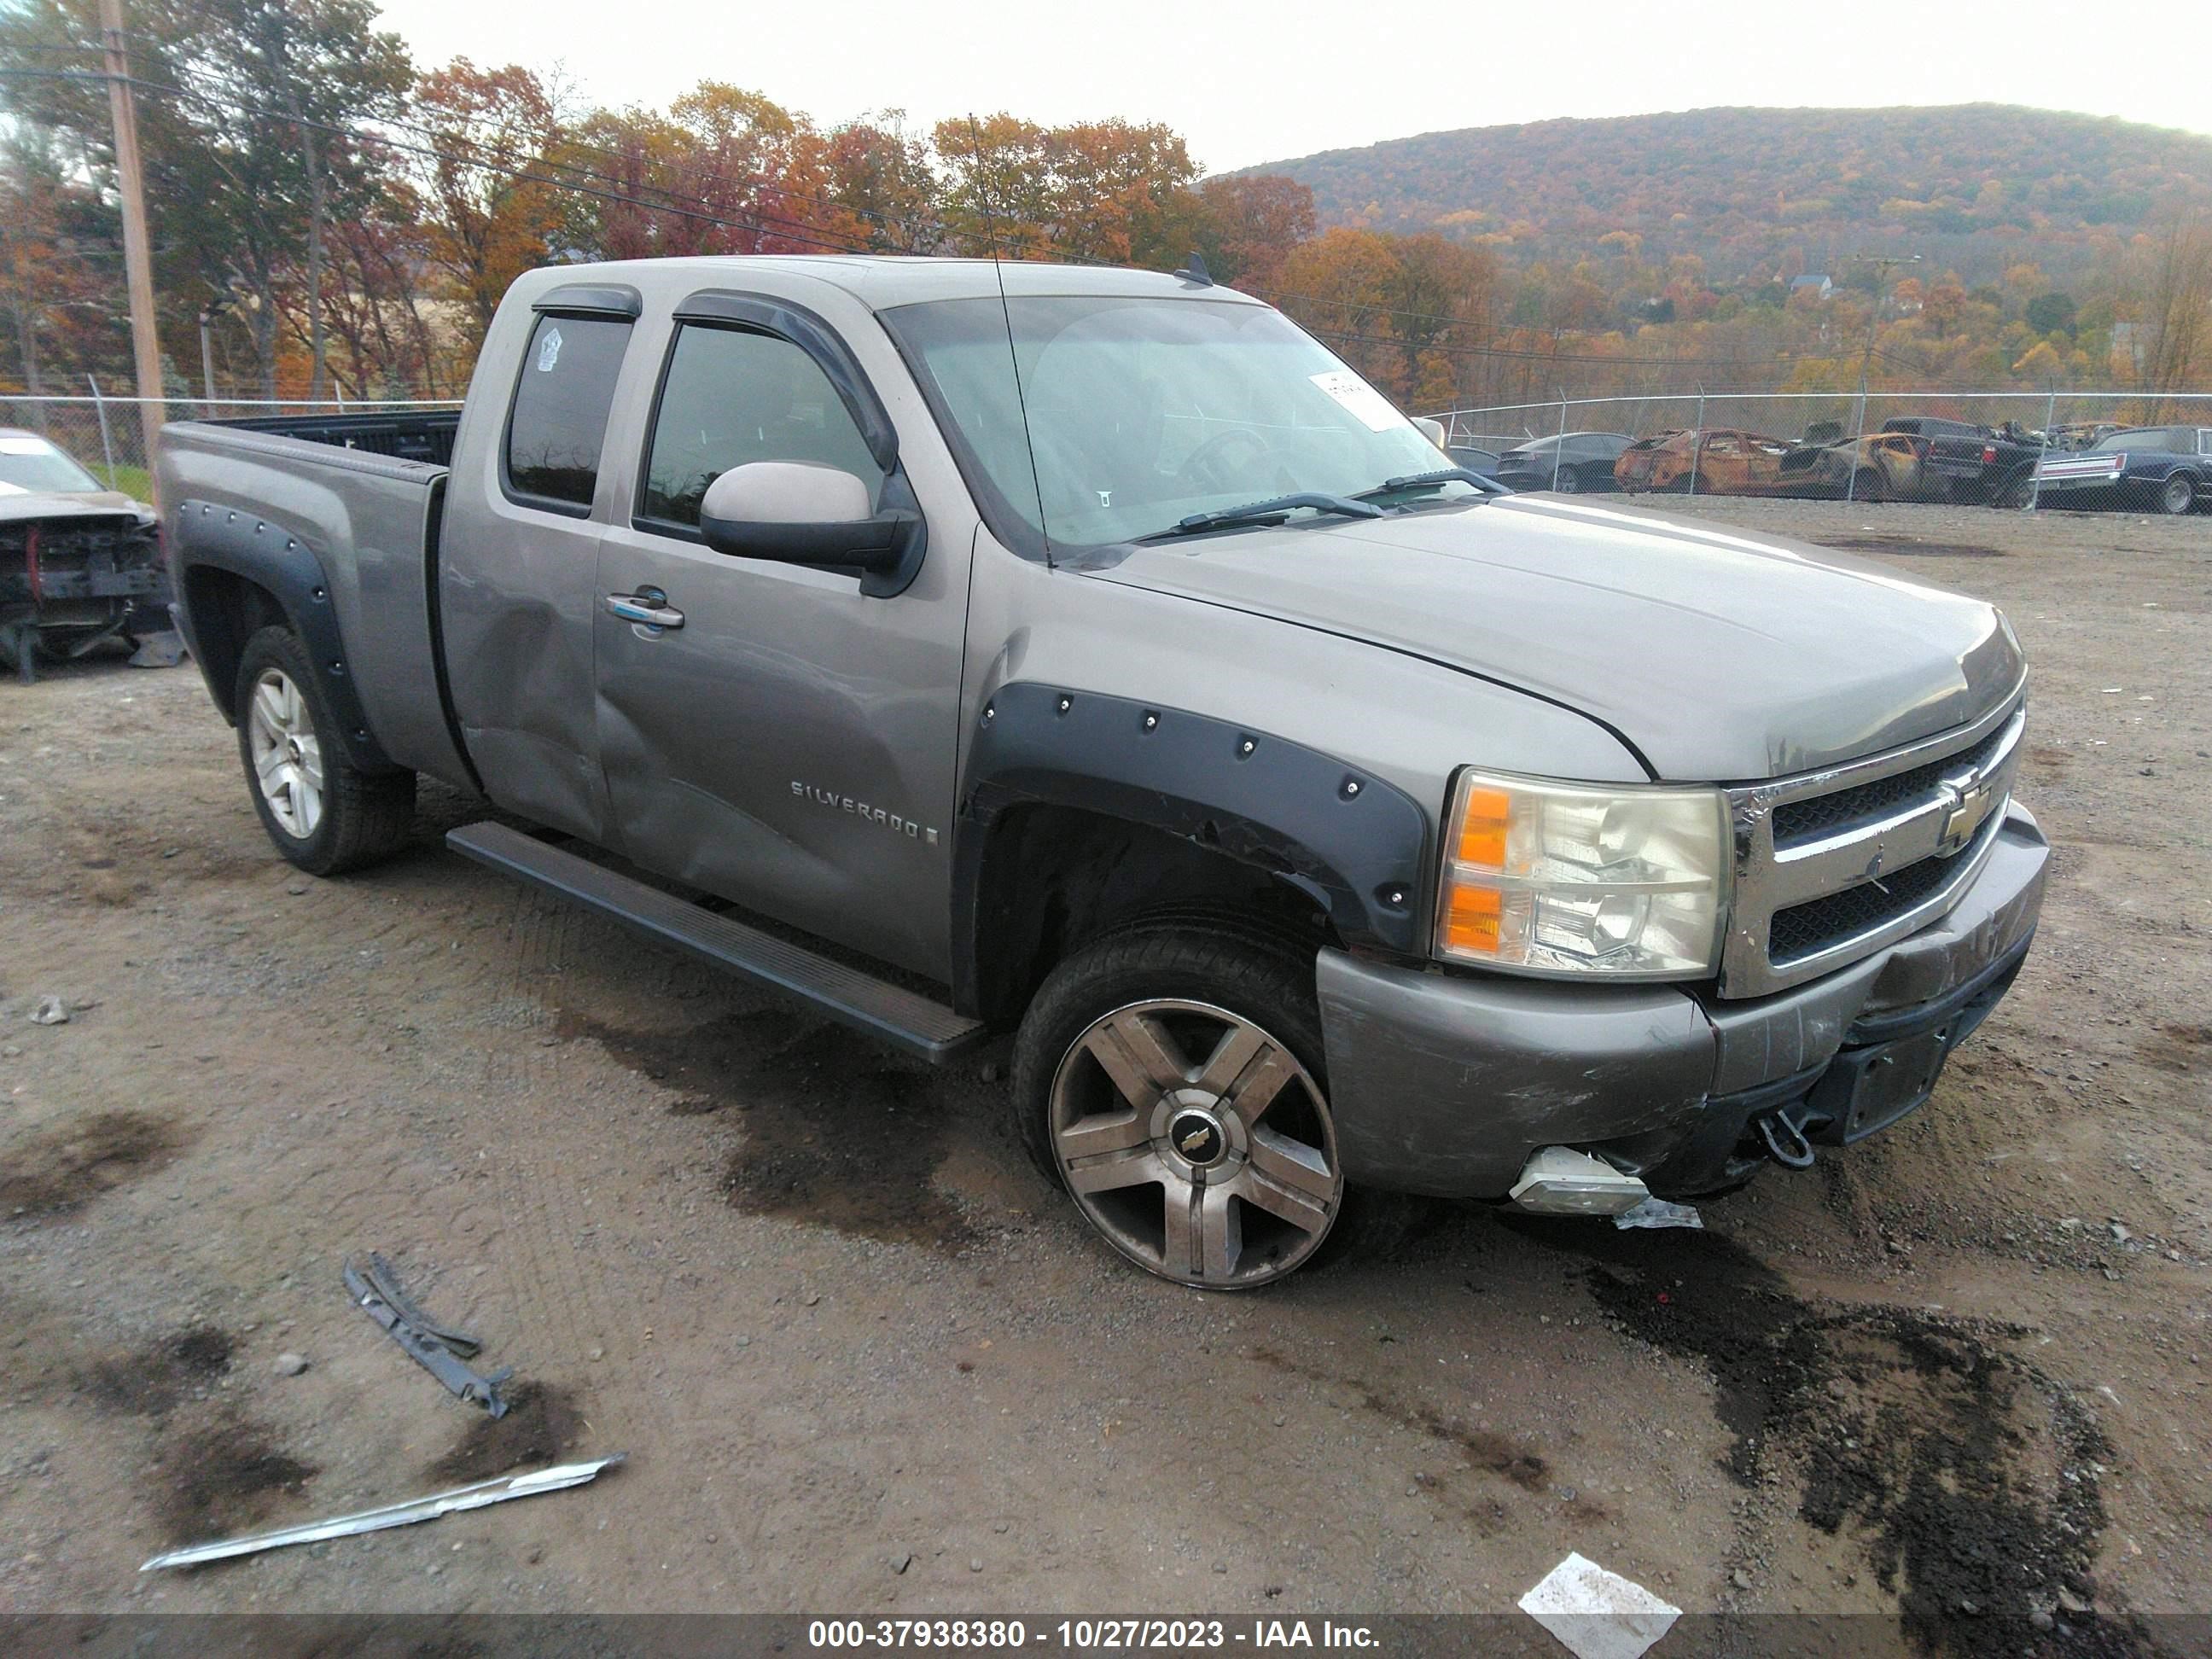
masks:
<instances>
[{"instance_id":1,"label":"black riveted fender flare above the pickup's front wheel","mask_svg":"<svg viewBox=\"0 0 2212 1659\"><path fill-rule=\"evenodd\" d=\"M1000 686L984 703L953 821L953 1000L982 984L991 827L1020 805L1164 830L1307 894L1352 949L1425 958L1429 814L1321 750L1164 703Z\"/></svg>"}]
</instances>

